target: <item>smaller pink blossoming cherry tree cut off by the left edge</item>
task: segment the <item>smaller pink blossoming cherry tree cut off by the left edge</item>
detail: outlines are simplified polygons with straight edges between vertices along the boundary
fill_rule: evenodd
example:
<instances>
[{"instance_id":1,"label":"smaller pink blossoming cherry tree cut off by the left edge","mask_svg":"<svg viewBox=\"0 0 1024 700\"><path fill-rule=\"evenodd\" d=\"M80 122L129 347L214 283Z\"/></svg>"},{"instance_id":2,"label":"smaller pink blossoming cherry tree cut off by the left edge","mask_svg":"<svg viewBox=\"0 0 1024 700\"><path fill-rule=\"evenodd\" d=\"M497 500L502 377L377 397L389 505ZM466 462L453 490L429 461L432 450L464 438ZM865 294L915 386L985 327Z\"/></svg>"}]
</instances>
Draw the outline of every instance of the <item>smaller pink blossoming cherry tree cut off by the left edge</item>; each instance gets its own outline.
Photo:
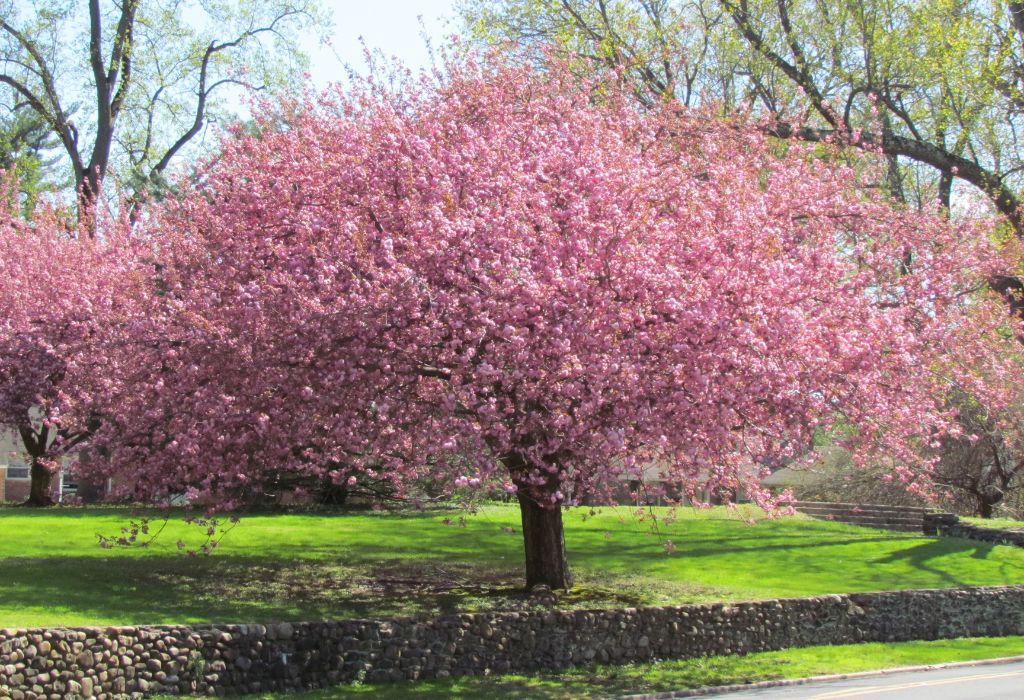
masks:
<instances>
[{"instance_id":1,"label":"smaller pink blossoming cherry tree cut off by the left edge","mask_svg":"<svg viewBox=\"0 0 1024 700\"><path fill-rule=\"evenodd\" d=\"M127 329L147 285L125 222L87 232L94 219L71 224L42 206L26 220L13 180L0 188L0 428L17 432L29 457L28 504L49 506L61 457L98 419L93 397L111 371L103 344Z\"/></svg>"}]
</instances>

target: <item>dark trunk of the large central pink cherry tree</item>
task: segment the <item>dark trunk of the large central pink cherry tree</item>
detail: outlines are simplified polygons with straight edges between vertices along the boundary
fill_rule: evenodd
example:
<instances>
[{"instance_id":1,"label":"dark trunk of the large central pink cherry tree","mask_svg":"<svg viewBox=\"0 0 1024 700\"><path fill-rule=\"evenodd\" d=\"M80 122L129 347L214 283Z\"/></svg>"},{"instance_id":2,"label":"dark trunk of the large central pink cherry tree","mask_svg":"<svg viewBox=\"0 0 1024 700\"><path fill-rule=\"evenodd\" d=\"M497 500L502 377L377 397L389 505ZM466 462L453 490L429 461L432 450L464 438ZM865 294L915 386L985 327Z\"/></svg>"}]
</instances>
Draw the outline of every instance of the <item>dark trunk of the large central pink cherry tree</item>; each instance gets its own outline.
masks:
<instances>
[{"instance_id":1,"label":"dark trunk of the large central pink cherry tree","mask_svg":"<svg viewBox=\"0 0 1024 700\"><path fill-rule=\"evenodd\" d=\"M526 589L538 583L555 588L569 588L572 576L565 557L565 533L560 506L543 507L520 488L519 512L522 515L522 538L526 551Z\"/></svg>"}]
</instances>

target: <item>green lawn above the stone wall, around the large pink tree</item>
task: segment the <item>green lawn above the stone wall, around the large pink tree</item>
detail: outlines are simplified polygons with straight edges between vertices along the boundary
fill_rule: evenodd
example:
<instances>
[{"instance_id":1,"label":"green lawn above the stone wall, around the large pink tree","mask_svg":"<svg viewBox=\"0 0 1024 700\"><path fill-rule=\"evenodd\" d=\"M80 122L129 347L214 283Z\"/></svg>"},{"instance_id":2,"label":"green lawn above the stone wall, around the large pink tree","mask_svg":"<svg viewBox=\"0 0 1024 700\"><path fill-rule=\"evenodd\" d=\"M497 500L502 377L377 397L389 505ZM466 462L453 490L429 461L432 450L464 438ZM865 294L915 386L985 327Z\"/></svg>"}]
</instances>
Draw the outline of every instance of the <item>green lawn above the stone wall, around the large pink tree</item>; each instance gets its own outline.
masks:
<instances>
[{"instance_id":1,"label":"green lawn above the stone wall, around the large pink tree","mask_svg":"<svg viewBox=\"0 0 1024 700\"><path fill-rule=\"evenodd\" d=\"M559 605L1024 583L1024 549L738 513L743 517L682 510L658 532L631 509L567 513L578 586ZM95 535L116 532L125 511L2 509L0 626L315 620L534 605L519 592L517 512L487 508L464 527L459 517L253 515L214 556L186 558L175 546L189 530L180 521L146 549L108 551Z\"/></svg>"}]
</instances>

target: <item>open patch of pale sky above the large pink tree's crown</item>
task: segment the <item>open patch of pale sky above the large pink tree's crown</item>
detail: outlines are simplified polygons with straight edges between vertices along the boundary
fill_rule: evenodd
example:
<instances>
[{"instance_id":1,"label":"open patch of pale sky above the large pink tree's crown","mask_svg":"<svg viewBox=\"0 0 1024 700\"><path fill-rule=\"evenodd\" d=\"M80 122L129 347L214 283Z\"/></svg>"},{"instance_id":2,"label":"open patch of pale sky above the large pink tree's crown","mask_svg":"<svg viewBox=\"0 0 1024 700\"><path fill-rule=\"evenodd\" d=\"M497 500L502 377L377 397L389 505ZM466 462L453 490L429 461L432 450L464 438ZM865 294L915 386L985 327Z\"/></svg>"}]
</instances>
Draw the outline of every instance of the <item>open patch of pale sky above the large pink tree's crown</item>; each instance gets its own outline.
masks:
<instances>
[{"instance_id":1,"label":"open patch of pale sky above the large pink tree's crown","mask_svg":"<svg viewBox=\"0 0 1024 700\"><path fill-rule=\"evenodd\" d=\"M455 0L321 0L331 13L330 45L306 47L310 76L316 87L345 77L344 67L364 72L362 44L395 56L412 69L429 64L427 42L444 43L456 33Z\"/></svg>"}]
</instances>

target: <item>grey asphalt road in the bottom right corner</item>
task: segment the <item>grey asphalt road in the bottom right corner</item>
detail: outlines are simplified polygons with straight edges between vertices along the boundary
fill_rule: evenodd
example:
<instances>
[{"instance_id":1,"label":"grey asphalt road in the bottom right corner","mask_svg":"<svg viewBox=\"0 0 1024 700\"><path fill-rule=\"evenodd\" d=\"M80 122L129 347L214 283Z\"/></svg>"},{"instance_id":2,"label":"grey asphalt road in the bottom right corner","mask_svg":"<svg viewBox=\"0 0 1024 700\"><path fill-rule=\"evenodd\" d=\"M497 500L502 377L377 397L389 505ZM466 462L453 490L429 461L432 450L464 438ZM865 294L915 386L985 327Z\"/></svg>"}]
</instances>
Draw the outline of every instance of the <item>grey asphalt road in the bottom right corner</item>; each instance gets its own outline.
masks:
<instances>
[{"instance_id":1,"label":"grey asphalt road in the bottom right corner","mask_svg":"<svg viewBox=\"0 0 1024 700\"><path fill-rule=\"evenodd\" d=\"M728 700L1024 700L1024 662L737 691Z\"/></svg>"}]
</instances>

